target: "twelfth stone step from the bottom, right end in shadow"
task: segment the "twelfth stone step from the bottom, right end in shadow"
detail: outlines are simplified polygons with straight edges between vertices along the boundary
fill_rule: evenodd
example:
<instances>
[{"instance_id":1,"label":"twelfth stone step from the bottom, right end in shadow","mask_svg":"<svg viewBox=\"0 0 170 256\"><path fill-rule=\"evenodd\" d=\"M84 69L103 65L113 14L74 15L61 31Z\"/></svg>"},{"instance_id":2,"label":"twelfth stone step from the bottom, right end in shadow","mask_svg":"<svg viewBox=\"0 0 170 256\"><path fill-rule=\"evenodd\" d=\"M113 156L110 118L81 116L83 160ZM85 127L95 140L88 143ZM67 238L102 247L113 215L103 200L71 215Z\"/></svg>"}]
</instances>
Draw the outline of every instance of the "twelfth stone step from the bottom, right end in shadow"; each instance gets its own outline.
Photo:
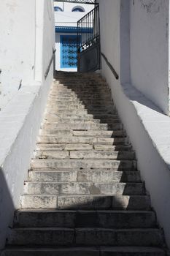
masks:
<instances>
[{"instance_id":1,"label":"twelfth stone step from the bottom, right end in shadow","mask_svg":"<svg viewBox=\"0 0 170 256\"><path fill-rule=\"evenodd\" d=\"M45 123L42 129L73 129L73 130L120 130L123 129L123 124L90 124L90 122L79 122L79 123Z\"/></svg>"}]
</instances>

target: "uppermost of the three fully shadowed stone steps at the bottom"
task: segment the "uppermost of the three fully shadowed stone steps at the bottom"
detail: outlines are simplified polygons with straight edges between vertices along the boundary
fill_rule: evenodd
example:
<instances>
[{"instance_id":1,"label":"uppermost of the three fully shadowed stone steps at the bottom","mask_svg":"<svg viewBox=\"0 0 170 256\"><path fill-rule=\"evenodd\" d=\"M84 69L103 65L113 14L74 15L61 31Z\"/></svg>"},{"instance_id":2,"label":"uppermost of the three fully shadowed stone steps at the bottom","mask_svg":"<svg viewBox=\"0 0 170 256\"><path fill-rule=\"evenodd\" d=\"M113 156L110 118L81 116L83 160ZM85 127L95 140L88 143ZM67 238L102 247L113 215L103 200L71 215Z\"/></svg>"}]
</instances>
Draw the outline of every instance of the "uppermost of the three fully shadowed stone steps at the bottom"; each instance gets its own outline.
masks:
<instances>
[{"instance_id":1,"label":"uppermost of the three fully shadowed stone steps at the bottom","mask_svg":"<svg viewBox=\"0 0 170 256\"><path fill-rule=\"evenodd\" d=\"M83 221L82 221L83 219ZM153 211L16 211L14 227L155 227Z\"/></svg>"}]
</instances>

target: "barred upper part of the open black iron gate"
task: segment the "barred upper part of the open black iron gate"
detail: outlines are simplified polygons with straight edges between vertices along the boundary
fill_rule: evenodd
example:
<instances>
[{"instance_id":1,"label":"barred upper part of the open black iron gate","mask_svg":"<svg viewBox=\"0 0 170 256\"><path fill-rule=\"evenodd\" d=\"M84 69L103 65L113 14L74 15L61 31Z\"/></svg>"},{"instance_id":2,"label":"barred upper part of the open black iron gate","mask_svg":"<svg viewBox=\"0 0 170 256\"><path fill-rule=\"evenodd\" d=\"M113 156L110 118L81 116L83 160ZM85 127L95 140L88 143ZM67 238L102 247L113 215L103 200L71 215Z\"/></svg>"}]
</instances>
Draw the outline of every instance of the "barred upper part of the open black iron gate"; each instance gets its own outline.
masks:
<instances>
[{"instance_id":1,"label":"barred upper part of the open black iron gate","mask_svg":"<svg viewBox=\"0 0 170 256\"><path fill-rule=\"evenodd\" d=\"M86 50L100 40L99 5L88 12L77 22L77 48L78 53Z\"/></svg>"}]
</instances>

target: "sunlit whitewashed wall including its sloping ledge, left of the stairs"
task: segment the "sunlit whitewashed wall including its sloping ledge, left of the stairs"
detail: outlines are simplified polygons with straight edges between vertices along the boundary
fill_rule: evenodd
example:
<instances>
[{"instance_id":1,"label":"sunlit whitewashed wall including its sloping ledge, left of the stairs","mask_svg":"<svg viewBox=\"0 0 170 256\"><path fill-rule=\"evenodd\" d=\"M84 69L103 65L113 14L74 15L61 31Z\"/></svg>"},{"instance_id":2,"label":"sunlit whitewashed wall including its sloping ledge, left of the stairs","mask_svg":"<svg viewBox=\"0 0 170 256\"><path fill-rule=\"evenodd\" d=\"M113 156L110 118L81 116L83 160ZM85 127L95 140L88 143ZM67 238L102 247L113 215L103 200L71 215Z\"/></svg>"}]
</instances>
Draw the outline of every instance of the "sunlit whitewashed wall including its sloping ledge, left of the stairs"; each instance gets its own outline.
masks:
<instances>
[{"instance_id":1,"label":"sunlit whitewashed wall including its sloping ledge, left of the stairs","mask_svg":"<svg viewBox=\"0 0 170 256\"><path fill-rule=\"evenodd\" d=\"M53 82L53 64L46 79L45 72L55 47L53 1L36 0L29 1L29 4L13 0L4 2L0 4L3 7L0 8L0 17L5 13L15 13L13 19L10 15L5 16L4 22L11 23L15 33L5 37L3 49L7 45L7 54L5 50L0 50L1 64L5 63L2 72L8 72L11 81L12 78L22 79L23 84L18 91L16 83L12 99L0 112L0 249L7 237L7 227L12 226L14 211L20 207L20 195L28 176L36 136ZM28 11L30 13L27 16ZM20 15L23 20L20 20ZM0 29L0 38L4 33L6 31ZM26 42L29 40L28 34L31 40ZM16 35L18 37L14 39ZM12 39L15 44L12 44ZM12 58L9 53L13 54ZM20 64L20 60L23 60L23 64Z\"/></svg>"}]
</instances>

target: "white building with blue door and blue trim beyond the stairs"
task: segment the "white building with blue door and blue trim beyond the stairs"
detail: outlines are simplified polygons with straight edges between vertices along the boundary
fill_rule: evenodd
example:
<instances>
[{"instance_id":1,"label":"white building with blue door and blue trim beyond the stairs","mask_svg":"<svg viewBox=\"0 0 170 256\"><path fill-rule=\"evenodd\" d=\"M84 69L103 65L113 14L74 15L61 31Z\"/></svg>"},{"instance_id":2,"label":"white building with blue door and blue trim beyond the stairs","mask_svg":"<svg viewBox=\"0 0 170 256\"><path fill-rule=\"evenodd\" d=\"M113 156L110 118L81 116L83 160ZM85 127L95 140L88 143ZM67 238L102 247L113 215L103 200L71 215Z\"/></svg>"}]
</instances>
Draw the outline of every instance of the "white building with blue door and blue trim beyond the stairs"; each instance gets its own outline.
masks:
<instances>
[{"instance_id":1,"label":"white building with blue door and blue trim beyond the stairs","mask_svg":"<svg viewBox=\"0 0 170 256\"><path fill-rule=\"evenodd\" d=\"M93 8L93 4L54 1L56 70L77 71L77 21Z\"/></svg>"}]
</instances>

